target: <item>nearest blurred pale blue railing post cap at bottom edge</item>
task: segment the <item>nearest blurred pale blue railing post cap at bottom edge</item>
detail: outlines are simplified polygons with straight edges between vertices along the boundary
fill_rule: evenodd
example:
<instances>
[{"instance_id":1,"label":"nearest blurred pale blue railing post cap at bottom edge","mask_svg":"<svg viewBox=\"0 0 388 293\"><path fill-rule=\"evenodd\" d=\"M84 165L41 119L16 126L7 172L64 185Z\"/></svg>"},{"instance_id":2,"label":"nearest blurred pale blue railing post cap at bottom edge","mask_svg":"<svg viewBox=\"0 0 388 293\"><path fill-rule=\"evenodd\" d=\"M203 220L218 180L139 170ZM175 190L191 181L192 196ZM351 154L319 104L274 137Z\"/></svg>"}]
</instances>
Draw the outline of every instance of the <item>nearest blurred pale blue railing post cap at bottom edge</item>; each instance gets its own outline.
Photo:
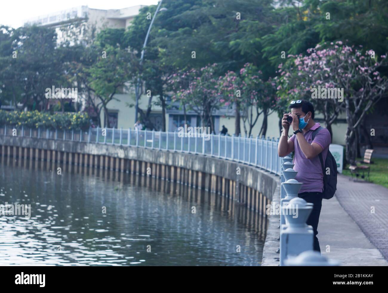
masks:
<instances>
[{"instance_id":1,"label":"nearest blurred pale blue railing post cap at bottom edge","mask_svg":"<svg viewBox=\"0 0 388 293\"><path fill-rule=\"evenodd\" d=\"M340 262L330 260L318 251L308 250L303 251L297 257L289 256L284 260L284 263L289 266L339 266Z\"/></svg>"}]
</instances>

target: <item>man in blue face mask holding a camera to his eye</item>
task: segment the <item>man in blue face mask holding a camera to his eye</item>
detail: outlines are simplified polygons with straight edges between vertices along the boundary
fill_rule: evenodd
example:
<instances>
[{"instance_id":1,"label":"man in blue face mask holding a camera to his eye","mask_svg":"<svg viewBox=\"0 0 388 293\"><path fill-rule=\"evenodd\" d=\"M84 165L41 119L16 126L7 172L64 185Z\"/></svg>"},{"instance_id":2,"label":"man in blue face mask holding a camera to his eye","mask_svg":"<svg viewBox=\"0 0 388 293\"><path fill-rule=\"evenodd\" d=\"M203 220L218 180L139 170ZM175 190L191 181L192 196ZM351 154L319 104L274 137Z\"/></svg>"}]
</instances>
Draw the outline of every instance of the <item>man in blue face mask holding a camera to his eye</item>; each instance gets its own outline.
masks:
<instances>
[{"instance_id":1,"label":"man in blue face mask holding a camera to his eye","mask_svg":"<svg viewBox=\"0 0 388 293\"><path fill-rule=\"evenodd\" d=\"M303 183L298 197L314 204L307 219L307 225L313 227L314 250L320 252L317 227L322 207L324 175L319 154L322 153L324 162L331 143L331 136L329 131L323 128L316 133L314 140L312 140L313 131L319 128L320 124L314 121L314 106L310 102L306 100L291 101L289 108L291 112L284 114L282 118L283 132L277 153L280 157L284 157L294 152L294 170L298 171L295 179ZM289 117L292 118L291 128L294 133L290 138L288 138L289 121L291 121Z\"/></svg>"}]
</instances>

